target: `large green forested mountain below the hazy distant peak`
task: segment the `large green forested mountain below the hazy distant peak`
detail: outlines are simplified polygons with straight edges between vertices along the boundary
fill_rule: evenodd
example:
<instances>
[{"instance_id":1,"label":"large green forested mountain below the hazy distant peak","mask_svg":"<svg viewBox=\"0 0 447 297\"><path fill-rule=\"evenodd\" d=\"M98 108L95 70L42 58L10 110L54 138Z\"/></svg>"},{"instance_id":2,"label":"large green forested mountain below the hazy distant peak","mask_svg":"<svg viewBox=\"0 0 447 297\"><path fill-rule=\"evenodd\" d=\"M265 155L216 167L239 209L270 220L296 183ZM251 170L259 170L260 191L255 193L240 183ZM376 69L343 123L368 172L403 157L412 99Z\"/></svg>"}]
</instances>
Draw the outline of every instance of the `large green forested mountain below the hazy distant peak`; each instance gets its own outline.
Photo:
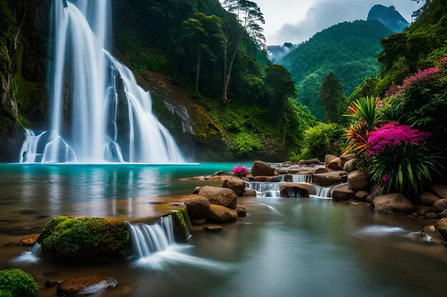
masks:
<instances>
[{"instance_id":1,"label":"large green forested mountain below the hazy distant peak","mask_svg":"<svg viewBox=\"0 0 447 297\"><path fill-rule=\"evenodd\" d=\"M298 100L313 115L323 118L319 102L321 80L333 71L343 83L346 95L365 78L378 73L376 56L382 51L381 39L391 31L381 22L343 22L316 33L306 43L283 58L298 86Z\"/></svg>"}]
</instances>

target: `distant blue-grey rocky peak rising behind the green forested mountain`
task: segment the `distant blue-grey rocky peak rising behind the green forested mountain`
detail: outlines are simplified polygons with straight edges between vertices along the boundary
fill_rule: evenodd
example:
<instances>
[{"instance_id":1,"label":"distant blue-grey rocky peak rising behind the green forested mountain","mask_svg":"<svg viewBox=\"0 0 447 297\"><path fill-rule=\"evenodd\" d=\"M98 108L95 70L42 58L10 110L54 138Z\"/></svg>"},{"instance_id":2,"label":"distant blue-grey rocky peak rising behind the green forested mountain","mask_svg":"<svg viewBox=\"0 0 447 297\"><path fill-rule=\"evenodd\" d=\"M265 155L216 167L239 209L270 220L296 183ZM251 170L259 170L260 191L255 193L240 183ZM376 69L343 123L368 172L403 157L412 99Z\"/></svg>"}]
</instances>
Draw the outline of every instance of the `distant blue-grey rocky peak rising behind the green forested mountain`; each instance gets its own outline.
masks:
<instances>
[{"instance_id":1,"label":"distant blue-grey rocky peak rising behind the green forested mountain","mask_svg":"<svg viewBox=\"0 0 447 297\"><path fill-rule=\"evenodd\" d=\"M368 18L366 20L380 21L393 33L402 32L403 29L410 25L410 23L408 23L406 19L403 19L403 16L396 11L394 6L386 7L380 4L373 6L368 12Z\"/></svg>"}]
</instances>

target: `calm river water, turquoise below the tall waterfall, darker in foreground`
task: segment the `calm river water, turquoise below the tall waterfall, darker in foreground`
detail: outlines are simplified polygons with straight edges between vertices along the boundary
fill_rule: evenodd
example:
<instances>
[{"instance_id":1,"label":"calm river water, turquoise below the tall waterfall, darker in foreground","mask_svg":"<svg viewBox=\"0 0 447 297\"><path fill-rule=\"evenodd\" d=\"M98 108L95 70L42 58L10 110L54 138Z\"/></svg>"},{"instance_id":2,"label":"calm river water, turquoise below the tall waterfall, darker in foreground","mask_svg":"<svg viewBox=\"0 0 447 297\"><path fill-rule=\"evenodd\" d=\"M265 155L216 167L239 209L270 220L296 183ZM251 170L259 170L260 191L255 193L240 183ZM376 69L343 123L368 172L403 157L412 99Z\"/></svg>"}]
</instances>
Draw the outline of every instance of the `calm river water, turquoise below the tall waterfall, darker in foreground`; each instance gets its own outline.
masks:
<instances>
[{"instance_id":1,"label":"calm river water, turquoise below the tall waterfall, darker in foreground","mask_svg":"<svg viewBox=\"0 0 447 297\"><path fill-rule=\"evenodd\" d=\"M378 214L366 204L317 198L248 198L246 218L207 233L195 226L161 255L159 269L131 260L54 264L17 260L16 243L52 217L156 217L176 195L216 182L186 179L231 170L202 165L0 165L0 269L29 271L39 296L49 279L112 276L102 296L443 296L447 248L406 238L433 221ZM167 209L167 207L166 207Z\"/></svg>"}]
</instances>

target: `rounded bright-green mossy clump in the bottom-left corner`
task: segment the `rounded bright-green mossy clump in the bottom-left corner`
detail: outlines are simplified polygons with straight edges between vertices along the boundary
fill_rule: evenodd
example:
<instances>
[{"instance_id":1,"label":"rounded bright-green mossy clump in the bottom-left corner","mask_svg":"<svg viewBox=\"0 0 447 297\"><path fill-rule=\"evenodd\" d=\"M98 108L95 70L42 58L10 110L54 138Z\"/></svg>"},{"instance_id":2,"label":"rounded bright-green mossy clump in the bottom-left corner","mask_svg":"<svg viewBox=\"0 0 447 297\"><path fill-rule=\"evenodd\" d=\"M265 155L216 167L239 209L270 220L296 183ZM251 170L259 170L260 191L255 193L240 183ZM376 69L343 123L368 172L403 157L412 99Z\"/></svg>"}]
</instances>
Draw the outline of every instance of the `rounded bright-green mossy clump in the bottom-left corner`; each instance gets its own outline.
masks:
<instances>
[{"instance_id":1,"label":"rounded bright-green mossy clump in the bottom-left corner","mask_svg":"<svg viewBox=\"0 0 447 297\"><path fill-rule=\"evenodd\" d=\"M37 283L31 274L21 269L0 271L1 297L36 297Z\"/></svg>"}]
</instances>

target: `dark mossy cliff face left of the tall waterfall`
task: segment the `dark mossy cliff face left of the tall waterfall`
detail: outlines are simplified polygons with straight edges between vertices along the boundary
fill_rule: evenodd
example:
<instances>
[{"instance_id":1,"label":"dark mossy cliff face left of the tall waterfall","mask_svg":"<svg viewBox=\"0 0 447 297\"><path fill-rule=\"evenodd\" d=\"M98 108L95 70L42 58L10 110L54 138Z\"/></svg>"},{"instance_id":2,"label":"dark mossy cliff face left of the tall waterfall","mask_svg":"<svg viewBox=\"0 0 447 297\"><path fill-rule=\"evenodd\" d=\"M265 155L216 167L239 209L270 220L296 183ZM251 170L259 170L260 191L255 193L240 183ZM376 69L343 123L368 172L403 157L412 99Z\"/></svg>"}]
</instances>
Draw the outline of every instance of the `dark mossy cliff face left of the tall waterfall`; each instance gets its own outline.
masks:
<instances>
[{"instance_id":1,"label":"dark mossy cliff face left of the tall waterfall","mask_svg":"<svg viewBox=\"0 0 447 297\"><path fill-rule=\"evenodd\" d=\"M0 162L16 162L24 125L46 118L49 0L0 3Z\"/></svg>"}]
</instances>

